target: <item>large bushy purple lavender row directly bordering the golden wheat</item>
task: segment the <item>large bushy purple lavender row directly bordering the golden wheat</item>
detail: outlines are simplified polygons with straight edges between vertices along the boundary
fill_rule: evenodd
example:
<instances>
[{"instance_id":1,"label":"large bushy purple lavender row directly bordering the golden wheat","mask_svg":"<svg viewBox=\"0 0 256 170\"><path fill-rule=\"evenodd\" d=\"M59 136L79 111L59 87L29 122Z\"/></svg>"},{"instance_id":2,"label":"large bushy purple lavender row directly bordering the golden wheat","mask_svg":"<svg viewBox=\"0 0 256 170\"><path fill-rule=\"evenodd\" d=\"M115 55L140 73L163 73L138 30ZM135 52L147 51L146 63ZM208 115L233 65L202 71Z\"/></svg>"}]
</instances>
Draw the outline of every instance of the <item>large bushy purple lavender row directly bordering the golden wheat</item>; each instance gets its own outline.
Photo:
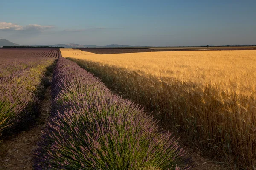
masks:
<instances>
[{"instance_id":1,"label":"large bushy purple lavender row directly bordering the golden wheat","mask_svg":"<svg viewBox=\"0 0 256 170\"><path fill-rule=\"evenodd\" d=\"M93 74L59 58L52 116L35 153L35 169L183 169L185 152L152 116L117 96Z\"/></svg>"}]
</instances>

